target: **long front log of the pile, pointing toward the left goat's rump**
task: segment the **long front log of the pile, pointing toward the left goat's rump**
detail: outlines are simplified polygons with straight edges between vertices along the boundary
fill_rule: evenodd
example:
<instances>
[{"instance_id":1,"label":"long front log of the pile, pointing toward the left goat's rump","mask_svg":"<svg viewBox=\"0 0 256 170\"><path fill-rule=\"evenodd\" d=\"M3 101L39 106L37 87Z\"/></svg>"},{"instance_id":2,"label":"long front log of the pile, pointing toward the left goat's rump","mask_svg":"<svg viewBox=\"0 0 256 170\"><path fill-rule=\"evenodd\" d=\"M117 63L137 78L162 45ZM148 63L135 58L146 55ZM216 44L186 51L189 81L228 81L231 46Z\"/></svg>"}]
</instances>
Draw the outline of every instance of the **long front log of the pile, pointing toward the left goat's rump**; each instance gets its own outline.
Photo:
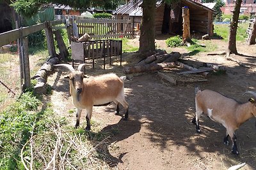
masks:
<instances>
[{"instance_id":1,"label":"long front log of the pile, pointing toward the left goat's rump","mask_svg":"<svg viewBox=\"0 0 256 170\"><path fill-rule=\"evenodd\" d=\"M126 67L124 67L124 72L126 74L141 73L141 72L145 72L145 71L156 71L156 70L163 69L165 67L175 67L175 64L173 62L164 62L164 63L159 63L159 64L126 66Z\"/></svg>"}]
</instances>

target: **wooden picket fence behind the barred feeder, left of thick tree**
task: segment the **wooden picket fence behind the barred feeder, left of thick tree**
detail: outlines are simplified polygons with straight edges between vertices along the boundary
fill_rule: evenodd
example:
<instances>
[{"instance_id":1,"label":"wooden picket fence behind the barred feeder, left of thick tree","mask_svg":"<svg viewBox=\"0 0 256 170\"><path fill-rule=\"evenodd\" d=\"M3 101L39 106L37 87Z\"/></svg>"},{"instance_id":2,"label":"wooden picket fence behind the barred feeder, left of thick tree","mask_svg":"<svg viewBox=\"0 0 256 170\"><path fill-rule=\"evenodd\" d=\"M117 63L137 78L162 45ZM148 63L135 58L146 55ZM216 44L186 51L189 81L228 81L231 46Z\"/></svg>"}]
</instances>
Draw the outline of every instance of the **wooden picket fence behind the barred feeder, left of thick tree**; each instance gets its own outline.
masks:
<instances>
[{"instance_id":1,"label":"wooden picket fence behind the barred feeder, left of thick tree","mask_svg":"<svg viewBox=\"0 0 256 170\"><path fill-rule=\"evenodd\" d=\"M115 18L72 18L73 30L79 37L87 33L91 39L132 38L134 22L130 19ZM77 27L77 28L76 28Z\"/></svg>"}]
</instances>

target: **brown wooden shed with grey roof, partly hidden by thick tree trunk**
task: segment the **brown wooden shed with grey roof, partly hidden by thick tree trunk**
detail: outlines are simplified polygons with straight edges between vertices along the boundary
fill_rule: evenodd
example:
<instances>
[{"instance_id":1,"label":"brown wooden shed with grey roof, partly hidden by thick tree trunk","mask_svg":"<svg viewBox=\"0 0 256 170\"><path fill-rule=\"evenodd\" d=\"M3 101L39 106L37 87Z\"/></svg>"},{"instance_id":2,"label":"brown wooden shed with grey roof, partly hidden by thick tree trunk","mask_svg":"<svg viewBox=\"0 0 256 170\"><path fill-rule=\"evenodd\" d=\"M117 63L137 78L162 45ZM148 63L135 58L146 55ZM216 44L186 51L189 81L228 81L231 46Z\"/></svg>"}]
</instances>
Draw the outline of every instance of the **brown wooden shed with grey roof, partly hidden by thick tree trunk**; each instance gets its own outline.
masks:
<instances>
[{"instance_id":1,"label":"brown wooden shed with grey roof, partly hidden by thick tree trunk","mask_svg":"<svg viewBox=\"0 0 256 170\"><path fill-rule=\"evenodd\" d=\"M142 18L142 9L140 4L142 0L130 1L124 6L118 8L114 15L118 18L132 17L134 25L140 24ZM192 0L180 0L179 3L169 6L164 1L156 2L155 27L156 35L159 34L182 34L182 7L189 8L189 22L191 32L202 32L204 34L213 34L213 15L214 10L196 3Z\"/></svg>"}]
</instances>

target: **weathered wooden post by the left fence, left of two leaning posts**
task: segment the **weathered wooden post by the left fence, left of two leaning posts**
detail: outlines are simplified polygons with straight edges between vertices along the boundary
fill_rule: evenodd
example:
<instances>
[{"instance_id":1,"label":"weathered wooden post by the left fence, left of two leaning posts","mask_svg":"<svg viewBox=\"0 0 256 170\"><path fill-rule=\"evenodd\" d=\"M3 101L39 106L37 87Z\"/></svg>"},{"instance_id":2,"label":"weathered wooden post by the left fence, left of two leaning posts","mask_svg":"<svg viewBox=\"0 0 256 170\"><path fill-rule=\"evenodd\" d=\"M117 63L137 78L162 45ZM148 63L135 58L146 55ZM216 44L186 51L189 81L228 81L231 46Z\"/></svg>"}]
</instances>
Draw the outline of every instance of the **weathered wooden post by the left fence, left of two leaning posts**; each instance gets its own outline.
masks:
<instances>
[{"instance_id":1,"label":"weathered wooden post by the left fence, left of two leaning posts","mask_svg":"<svg viewBox=\"0 0 256 170\"><path fill-rule=\"evenodd\" d=\"M56 50L54 46L54 39L50 22L45 22L45 37L47 40L48 53L51 58L56 57Z\"/></svg>"}]
</instances>

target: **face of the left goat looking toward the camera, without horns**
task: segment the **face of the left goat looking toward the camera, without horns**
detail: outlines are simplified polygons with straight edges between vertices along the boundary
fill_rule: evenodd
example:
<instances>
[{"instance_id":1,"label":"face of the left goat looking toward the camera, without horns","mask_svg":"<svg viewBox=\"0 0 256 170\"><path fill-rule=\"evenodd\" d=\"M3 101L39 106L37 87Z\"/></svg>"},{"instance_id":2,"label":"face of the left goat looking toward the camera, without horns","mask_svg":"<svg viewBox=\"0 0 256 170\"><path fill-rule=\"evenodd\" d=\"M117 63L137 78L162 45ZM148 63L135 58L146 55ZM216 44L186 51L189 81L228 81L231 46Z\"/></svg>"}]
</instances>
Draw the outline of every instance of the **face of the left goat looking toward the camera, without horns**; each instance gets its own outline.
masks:
<instances>
[{"instance_id":1,"label":"face of the left goat looking toward the camera, without horns","mask_svg":"<svg viewBox=\"0 0 256 170\"><path fill-rule=\"evenodd\" d=\"M83 91L83 72L72 71L66 78L69 78L70 88L74 89L77 94L81 94Z\"/></svg>"}]
</instances>

